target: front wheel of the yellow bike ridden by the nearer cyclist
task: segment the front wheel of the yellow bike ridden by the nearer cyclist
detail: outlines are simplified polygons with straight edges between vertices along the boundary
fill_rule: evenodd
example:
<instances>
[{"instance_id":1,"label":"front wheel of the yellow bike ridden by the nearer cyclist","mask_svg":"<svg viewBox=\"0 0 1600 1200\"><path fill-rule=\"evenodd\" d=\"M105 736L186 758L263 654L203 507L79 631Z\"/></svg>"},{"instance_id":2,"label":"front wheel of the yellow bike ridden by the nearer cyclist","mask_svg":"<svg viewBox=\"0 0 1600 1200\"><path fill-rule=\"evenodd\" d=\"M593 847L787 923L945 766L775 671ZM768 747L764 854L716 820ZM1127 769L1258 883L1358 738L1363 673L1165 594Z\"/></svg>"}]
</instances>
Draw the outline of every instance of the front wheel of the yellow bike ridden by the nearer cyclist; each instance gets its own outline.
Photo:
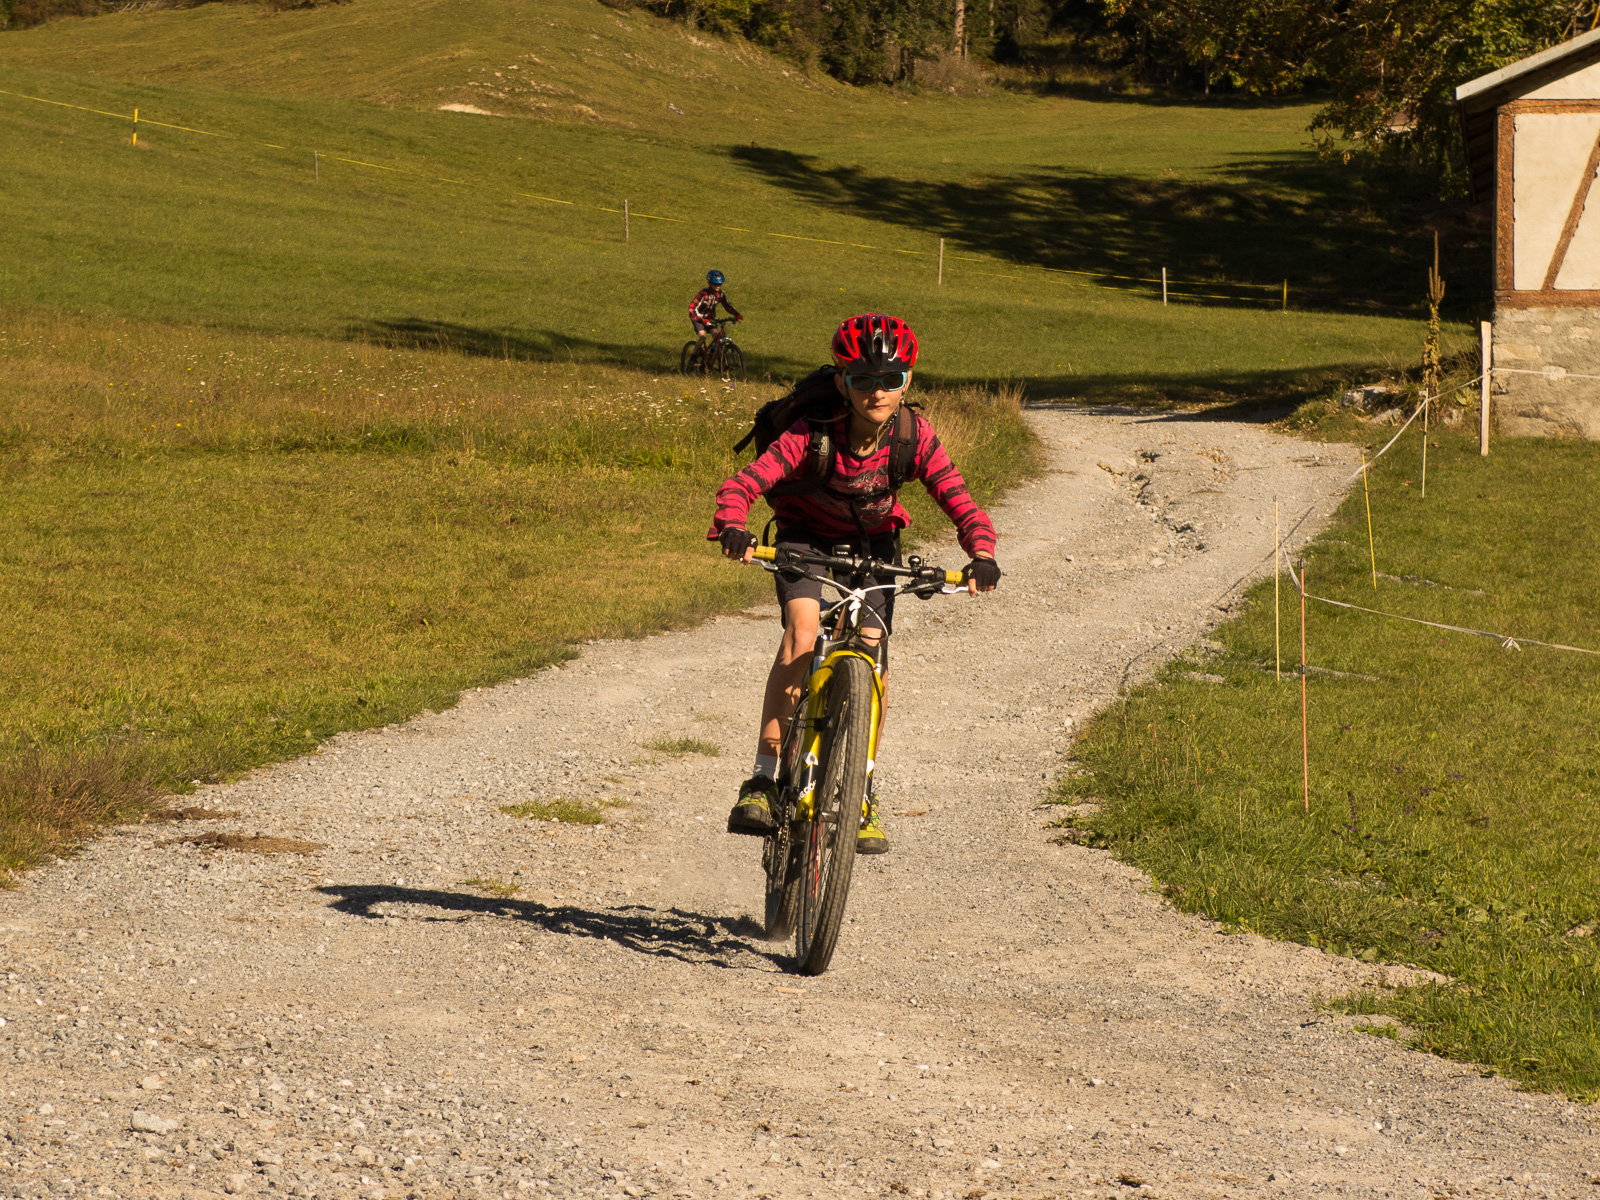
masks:
<instances>
[{"instance_id":1,"label":"front wheel of the yellow bike ridden by the nearer cyclist","mask_svg":"<svg viewBox=\"0 0 1600 1200\"><path fill-rule=\"evenodd\" d=\"M872 669L854 654L838 661L827 691L827 731L818 765L811 821L797 827L800 912L795 958L802 974L822 974L838 944L856 866L856 834L867 794L872 736Z\"/></svg>"}]
</instances>

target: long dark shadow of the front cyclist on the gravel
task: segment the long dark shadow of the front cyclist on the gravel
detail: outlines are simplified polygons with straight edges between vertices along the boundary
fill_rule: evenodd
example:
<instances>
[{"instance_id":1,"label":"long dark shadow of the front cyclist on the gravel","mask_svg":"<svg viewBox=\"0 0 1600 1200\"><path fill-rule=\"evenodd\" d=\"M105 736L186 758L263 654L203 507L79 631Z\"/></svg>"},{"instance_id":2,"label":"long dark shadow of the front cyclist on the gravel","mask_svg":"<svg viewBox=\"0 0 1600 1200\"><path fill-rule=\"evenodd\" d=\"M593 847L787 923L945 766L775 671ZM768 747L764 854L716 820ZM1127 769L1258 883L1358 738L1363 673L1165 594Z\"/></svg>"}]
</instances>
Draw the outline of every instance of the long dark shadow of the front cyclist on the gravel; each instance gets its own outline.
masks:
<instances>
[{"instance_id":1,"label":"long dark shadow of the front cyclist on the gravel","mask_svg":"<svg viewBox=\"0 0 1600 1200\"><path fill-rule=\"evenodd\" d=\"M571 938L598 938L626 950L656 958L675 958L698 966L741 968L733 958L750 955L763 963L787 970L789 957L765 949L762 928L749 917L707 917L685 909L651 909L626 904L616 909L581 909L571 904L547 906L499 896L474 896L462 891L395 886L322 886L325 896L338 896L334 912L366 920L461 922L472 917L504 917L536 925L546 933ZM432 912L378 912L378 906L411 906ZM752 944L754 942L754 944Z\"/></svg>"}]
</instances>

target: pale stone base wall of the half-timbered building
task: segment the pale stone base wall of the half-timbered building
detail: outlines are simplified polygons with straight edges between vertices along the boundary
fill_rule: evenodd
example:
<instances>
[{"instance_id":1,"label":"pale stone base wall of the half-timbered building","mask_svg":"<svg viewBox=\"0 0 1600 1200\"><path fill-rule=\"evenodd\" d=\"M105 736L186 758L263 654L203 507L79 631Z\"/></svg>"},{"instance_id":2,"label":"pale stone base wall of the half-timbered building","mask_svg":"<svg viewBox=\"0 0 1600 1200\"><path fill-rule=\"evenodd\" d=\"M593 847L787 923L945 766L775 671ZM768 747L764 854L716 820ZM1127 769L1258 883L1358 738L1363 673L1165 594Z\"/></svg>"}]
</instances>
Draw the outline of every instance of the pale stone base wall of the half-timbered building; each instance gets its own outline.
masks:
<instances>
[{"instance_id":1,"label":"pale stone base wall of the half-timbered building","mask_svg":"<svg viewBox=\"0 0 1600 1200\"><path fill-rule=\"evenodd\" d=\"M1600 309L1496 309L1494 416L1506 437L1600 442Z\"/></svg>"}]
</instances>

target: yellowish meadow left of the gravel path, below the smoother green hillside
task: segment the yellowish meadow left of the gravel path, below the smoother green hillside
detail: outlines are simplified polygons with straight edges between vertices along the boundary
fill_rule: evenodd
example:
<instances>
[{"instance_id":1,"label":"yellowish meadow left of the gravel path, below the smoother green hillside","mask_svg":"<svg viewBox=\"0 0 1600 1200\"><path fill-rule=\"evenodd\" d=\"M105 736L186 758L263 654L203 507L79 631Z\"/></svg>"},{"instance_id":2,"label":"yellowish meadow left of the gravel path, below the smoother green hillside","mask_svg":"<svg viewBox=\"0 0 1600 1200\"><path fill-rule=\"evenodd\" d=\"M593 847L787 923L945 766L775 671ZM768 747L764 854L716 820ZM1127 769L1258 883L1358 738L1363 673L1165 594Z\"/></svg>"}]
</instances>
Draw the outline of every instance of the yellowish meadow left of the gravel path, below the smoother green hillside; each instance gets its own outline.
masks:
<instances>
[{"instance_id":1,"label":"yellowish meadow left of the gravel path, below the smoother green hillside","mask_svg":"<svg viewBox=\"0 0 1600 1200\"><path fill-rule=\"evenodd\" d=\"M776 392L0 312L0 867L765 595L704 534ZM1014 394L926 400L978 494L1032 470Z\"/></svg>"}]
</instances>

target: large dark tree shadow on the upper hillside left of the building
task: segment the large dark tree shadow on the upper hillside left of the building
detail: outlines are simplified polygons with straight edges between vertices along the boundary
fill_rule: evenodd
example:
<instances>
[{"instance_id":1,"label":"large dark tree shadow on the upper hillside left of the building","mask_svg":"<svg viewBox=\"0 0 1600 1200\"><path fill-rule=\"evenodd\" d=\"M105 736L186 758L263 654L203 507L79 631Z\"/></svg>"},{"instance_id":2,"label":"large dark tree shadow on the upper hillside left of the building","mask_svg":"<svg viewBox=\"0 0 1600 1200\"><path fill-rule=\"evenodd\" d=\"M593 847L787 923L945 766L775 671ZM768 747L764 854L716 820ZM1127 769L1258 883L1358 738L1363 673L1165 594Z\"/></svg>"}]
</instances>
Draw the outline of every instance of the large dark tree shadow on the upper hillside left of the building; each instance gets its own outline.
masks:
<instances>
[{"instance_id":1,"label":"large dark tree shadow on the upper hillside left of the building","mask_svg":"<svg viewBox=\"0 0 1600 1200\"><path fill-rule=\"evenodd\" d=\"M1242 160L1208 179L1035 168L941 181L760 146L728 154L819 208L949 238L954 277L966 266L965 248L1090 272L1150 296L1166 267L1174 293L1213 296L1184 302L1277 307L1288 280L1298 309L1418 312L1437 227L1446 304L1478 312L1488 301L1490 230L1480 211L1442 206L1398 171L1310 152Z\"/></svg>"}]
</instances>

